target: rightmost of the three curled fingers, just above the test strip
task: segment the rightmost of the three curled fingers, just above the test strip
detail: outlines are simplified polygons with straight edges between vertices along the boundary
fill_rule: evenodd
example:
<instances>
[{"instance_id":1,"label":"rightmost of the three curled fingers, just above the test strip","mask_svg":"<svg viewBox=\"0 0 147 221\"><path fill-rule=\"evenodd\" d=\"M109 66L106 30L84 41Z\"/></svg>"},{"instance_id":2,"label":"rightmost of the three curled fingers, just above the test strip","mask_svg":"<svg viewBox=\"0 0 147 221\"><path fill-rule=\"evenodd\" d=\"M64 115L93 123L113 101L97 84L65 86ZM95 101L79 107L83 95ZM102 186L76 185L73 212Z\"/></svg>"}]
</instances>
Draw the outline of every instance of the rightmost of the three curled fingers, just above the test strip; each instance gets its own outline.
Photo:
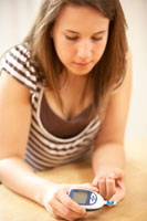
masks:
<instances>
[{"instance_id":1,"label":"rightmost of the three curled fingers, just above the test strip","mask_svg":"<svg viewBox=\"0 0 147 221\"><path fill-rule=\"evenodd\" d=\"M107 196L107 200L109 198L112 198L115 194L116 190L115 190L115 180L114 179L106 179L106 196Z\"/></svg>"}]
</instances>

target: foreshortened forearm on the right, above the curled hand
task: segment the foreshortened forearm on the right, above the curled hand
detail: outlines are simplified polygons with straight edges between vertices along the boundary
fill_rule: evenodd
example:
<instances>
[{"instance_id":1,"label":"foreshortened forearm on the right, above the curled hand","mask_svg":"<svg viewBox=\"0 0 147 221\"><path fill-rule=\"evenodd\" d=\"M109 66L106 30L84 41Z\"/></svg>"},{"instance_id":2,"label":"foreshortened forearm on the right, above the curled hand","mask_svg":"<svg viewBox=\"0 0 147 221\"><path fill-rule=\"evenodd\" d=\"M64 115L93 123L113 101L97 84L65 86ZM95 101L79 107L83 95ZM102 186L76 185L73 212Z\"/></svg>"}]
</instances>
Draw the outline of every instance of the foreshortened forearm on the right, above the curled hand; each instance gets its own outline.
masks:
<instances>
[{"instance_id":1,"label":"foreshortened forearm on the right, above the curled hand","mask_svg":"<svg viewBox=\"0 0 147 221\"><path fill-rule=\"evenodd\" d=\"M95 176L109 172L115 168L124 169L125 151L119 144L102 144L95 148L92 158Z\"/></svg>"}]
</instances>

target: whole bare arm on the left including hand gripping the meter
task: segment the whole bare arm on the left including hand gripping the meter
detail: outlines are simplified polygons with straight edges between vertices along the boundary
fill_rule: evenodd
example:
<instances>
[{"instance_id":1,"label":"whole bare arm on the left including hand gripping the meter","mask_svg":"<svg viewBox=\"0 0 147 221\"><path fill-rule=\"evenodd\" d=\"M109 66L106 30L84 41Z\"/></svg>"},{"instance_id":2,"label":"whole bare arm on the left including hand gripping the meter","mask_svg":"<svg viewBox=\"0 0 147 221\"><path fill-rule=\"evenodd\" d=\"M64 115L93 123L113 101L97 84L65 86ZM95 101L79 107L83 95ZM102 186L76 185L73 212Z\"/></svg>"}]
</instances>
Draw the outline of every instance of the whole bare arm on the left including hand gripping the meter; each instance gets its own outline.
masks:
<instances>
[{"instance_id":1,"label":"whole bare arm on the left including hand gripping the meter","mask_svg":"<svg viewBox=\"0 0 147 221\"><path fill-rule=\"evenodd\" d=\"M29 90L2 72L0 77L0 180L8 188L42 206L55 218L73 220L85 210L67 196L71 185L39 177L24 161L31 123ZM95 190L91 185L74 187Z\"/></svg>"}]
</instances>

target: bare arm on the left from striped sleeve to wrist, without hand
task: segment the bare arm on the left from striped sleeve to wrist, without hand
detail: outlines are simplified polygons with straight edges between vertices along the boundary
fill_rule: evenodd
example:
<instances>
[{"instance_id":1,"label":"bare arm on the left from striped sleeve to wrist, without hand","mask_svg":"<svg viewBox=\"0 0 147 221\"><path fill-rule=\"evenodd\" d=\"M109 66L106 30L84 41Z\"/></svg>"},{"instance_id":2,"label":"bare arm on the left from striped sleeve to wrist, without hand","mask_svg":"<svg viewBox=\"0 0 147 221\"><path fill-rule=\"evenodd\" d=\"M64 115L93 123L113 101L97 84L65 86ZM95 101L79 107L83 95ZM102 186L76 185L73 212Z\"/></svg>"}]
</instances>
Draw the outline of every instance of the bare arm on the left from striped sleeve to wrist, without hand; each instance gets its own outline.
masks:
<instances>
[{"instance_id":1,"label":"bare arm on the left from striped sleeve to wrist, without hand","mask_svg":"<svg viewBox=\"0 0 147 221\"><path fill-rule=\"evenodd\" d=\"M38 190L43 187L41 183L44 180L38 178L24 161L30 120L29 90L7 73L2 73L0 77L0 180L15 192L39 201Z\"/></svg>"}]
</instances>

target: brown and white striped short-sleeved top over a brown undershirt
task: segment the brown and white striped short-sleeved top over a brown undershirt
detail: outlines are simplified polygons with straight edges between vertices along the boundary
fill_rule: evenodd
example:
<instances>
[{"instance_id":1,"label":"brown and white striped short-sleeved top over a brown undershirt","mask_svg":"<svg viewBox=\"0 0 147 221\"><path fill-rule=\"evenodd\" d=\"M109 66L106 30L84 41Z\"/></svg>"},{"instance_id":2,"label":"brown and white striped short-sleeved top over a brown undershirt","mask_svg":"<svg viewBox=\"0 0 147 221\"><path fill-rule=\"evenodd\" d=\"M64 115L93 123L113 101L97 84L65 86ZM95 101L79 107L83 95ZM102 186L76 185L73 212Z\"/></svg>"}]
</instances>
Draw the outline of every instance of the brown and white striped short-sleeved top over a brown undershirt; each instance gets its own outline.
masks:
<instances>
[{"instance_id":1,"label":"brown and white striped short-sleeved top over a brown undershirt","mask_svg":"<svg viewBox=\"0 0 147 221\"><path fill-rule=\"evenodd\" d=\"M25 161L34 170L46 170L84 159L92 154L101 127L101 120L97 116L78 134L67 138L57 137L44 127L41 118L44 86L36 77L36 69L33 66L31 54L24 45L15 45L4 54L0 72L2 70L25 85L31 93L32 117Z\"/></svg>"}]
</instances>

